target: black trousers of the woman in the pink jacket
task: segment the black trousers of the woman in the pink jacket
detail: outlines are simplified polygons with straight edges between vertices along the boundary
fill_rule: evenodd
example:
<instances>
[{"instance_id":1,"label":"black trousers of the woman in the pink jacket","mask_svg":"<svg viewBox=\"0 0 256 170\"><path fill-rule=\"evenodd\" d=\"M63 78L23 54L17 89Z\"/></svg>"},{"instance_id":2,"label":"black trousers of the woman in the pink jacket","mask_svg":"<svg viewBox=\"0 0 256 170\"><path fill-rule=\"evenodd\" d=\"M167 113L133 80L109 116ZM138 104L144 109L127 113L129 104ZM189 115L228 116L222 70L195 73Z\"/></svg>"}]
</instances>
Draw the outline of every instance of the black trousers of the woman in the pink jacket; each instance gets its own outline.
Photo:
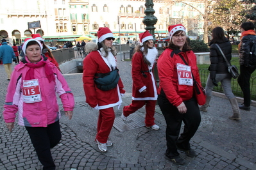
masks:
<instances>
[{"instance_id":1,"label":"black trousers of the woman in the pink jacket","mask_svg":"<svg viewBox=\"0 0 256 170\"><path fill-rule=\"evenodd\" d=\"M50 148L56 146L62 137L59 121L47 127L26 127L26 130L37 152L37 157L44 166L43 169L55 170L55 163L53 162L53 157L51 157Z\"/></svg>"}]
</instances>

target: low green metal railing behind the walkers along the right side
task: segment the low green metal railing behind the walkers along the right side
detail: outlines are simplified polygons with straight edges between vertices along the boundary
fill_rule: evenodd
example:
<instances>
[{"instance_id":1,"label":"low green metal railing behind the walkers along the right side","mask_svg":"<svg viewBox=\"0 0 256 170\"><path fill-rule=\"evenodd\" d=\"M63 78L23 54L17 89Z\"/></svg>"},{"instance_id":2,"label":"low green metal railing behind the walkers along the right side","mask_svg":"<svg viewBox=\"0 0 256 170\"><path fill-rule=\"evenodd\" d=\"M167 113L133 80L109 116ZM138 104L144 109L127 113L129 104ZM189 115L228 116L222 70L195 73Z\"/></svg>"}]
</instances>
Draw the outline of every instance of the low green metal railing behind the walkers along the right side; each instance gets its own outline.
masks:
<instances>
[{"instance_id":1,"label":"low green metal railing behind the walkers along the right side","mask_svg":"<svg viewBox=\"0 0 256 170\"><path fill-rule=\"evenodd\" d=\"M209 70L207 68L200 68L199 69L201 84L203 87L206 86L207 78L209 76ZM256 77L251 77L250 79L250 91L251 91L251 100L256 100ZM241 90L237 79L231 80L231 88L232 92L236 97L243 97L243 91ZM255 89L255 90L254 90ZM214 91L218 91L220 93L224 93L223 88L220 84L214 87Z\"/></svg>"}]
</instances>

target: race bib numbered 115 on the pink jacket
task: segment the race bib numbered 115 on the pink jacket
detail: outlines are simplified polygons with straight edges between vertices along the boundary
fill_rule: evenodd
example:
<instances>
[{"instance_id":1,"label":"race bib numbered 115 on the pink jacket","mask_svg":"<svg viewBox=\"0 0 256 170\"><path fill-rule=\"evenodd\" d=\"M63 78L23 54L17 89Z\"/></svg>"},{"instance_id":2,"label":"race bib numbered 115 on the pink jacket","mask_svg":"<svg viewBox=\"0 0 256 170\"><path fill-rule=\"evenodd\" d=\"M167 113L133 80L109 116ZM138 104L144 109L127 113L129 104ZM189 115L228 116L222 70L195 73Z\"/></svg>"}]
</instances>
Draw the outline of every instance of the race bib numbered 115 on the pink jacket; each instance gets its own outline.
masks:
<instances>
[{"instance_id":1,"label":"race bib numbered 115 on the pink jacket","mask_svg":"<svg viewBox=\"0 0 256 170\"><path fill-rule=\"evenodd\" d=\"M22 92L24 103L35 103L42 101L38 79L23 81Z\"/></svg>"}]
</instances>

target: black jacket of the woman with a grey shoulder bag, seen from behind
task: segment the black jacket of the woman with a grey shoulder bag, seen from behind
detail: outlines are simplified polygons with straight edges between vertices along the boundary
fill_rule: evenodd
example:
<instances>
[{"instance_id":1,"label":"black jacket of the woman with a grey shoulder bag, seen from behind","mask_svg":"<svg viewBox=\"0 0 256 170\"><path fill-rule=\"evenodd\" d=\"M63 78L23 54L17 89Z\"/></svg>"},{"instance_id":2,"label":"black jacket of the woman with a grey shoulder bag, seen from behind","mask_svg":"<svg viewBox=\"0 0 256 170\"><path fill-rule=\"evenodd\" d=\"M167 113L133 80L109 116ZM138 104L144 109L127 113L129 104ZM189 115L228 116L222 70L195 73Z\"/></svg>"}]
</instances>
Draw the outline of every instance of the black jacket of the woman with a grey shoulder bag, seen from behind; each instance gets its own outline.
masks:
<instances>
[{"instance_id":1,"label":"black jacket of the woman with a grey shoulder bag, seen from behind","mask_svg":"<svg viewBox=\"0 0 256 170\"><path fill-rule=\"evenodd\" d=\"M228 38L225 38L224 41L219 40L215 43L218 43L219 47L225 54L226 59L230 63L232 46L228 41ZM228 73L228 65L226 65L226 61L215 43L210 42L210 79L215 79L216 73Z\"/></svg>"}]
</instances>

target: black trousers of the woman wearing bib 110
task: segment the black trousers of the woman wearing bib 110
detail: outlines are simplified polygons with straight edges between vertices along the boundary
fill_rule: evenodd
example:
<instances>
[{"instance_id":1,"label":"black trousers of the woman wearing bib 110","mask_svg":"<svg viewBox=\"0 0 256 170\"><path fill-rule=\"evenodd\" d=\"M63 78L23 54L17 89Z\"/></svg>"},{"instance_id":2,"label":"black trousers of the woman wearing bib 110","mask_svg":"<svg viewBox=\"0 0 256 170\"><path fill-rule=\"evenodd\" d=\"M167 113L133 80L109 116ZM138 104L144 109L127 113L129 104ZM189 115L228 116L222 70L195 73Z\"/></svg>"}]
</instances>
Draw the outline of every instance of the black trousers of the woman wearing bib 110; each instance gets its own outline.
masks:
<instances>
[{"instance_id":1,"label":"black trousers of the woman wearing bib 110","mask_svg":"<svg viewBox=\"0 0 256 170\"><path fill-rule=\"evenodd\" d=\"M166 120L166 156L169 158L177 158L180 155L177 146L183 150L190 150L191 146L189 141L196 133L196 130L198 130L201 122L201 114L196 98L184 101L184 104L187 107L187 112L185 114L178 112L177 107L172 105L163 95L158 95L157 100ZM182 134L180 134L182 121L185 126Z\"/></svg>"}]
</instances>

